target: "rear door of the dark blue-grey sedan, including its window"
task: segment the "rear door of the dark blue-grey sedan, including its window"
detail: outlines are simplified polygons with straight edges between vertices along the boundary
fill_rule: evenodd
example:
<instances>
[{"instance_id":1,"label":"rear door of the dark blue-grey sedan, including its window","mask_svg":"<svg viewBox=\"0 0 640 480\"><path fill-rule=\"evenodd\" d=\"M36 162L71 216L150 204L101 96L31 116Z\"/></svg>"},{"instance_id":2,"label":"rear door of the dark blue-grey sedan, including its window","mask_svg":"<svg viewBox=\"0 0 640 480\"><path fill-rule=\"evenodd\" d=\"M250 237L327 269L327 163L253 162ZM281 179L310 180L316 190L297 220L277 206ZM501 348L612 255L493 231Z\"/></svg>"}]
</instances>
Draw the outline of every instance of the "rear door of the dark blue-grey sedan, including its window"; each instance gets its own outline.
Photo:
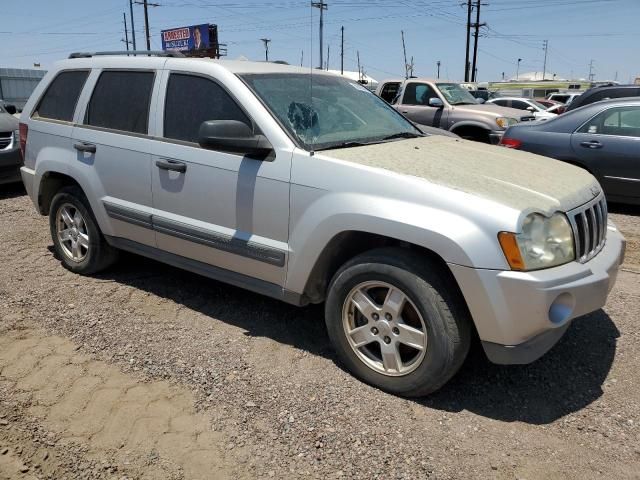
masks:
<instances>
[{"instance_id":1,"label":"rear door of the dark blue-grey sedan, including its window","mask_svg":"<svg viewBox=\"0 0 640 480\"><path fill-rule=\"evenodd\" d=\"M610 197L640 198L640 107L614 107L571 136L571 147Z\"/></svg>"}]
</instances>

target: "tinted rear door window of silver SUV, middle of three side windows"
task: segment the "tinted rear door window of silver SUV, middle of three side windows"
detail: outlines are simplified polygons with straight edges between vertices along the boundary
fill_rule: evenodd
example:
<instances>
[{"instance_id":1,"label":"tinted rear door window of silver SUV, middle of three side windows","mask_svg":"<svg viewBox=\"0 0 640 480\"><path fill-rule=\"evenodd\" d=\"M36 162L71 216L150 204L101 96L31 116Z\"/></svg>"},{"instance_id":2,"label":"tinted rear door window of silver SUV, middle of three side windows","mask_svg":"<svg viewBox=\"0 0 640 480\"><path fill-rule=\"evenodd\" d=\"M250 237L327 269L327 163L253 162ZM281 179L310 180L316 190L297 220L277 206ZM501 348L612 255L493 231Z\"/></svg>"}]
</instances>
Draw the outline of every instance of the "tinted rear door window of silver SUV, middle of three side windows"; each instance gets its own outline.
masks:
<instances>
[{"instance_id":1,"label":"tinted rear door window of silver SUV, middle of three side windows","mask_svg":"<svg viewBox=\"0 0 640 480\"><path fill-rule=\"evenodd\" d=\"M154 72L102 72L89 101L85 123L146 134L154 77Z\"/></svg>"}]
</instances>

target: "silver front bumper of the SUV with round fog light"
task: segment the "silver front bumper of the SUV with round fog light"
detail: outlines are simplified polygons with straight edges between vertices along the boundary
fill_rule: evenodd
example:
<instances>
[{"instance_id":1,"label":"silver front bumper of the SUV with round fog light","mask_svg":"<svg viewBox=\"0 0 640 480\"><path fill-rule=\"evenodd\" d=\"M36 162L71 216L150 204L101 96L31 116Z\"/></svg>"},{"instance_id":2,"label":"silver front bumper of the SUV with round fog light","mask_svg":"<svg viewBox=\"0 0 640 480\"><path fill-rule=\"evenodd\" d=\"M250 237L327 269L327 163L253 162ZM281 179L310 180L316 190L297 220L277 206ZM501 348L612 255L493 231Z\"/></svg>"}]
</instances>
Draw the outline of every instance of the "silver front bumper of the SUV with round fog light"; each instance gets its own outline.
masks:
<instances>
[{"instance_id":1,"label":"silver front bumper of the SUV with round fog light","mask_svg":"<svg viewBox=\"0 0 640 480\"><path fill-rule=\"evenodd\" d=\"M531 363L556 344L574 318L603 307L625 246L624 237L609 225L604 248L584 264L533 272L450 264L489 360Z\"/></svg>"}]
</instances>

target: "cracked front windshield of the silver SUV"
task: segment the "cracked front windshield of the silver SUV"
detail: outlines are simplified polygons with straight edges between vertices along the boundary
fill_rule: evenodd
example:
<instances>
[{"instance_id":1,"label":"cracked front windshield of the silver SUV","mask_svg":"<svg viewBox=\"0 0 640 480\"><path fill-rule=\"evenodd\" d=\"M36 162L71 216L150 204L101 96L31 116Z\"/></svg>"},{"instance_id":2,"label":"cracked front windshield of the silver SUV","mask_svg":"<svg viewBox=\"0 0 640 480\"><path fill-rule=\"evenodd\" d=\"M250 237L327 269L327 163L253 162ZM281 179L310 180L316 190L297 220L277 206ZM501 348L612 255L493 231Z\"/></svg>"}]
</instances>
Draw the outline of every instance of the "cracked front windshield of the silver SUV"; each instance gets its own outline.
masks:
<instances>
[{"instance_id":1,"label":"cracked front windshield of the silver SUV","mask_svg":"<svg viewBox=\"0 0 640 480\"><path fill-rule=\"evenodd\" d=\"M339 76L273 73L242 78L307 150L422 135L384 100Z\"/></svg>"}]
</instances>

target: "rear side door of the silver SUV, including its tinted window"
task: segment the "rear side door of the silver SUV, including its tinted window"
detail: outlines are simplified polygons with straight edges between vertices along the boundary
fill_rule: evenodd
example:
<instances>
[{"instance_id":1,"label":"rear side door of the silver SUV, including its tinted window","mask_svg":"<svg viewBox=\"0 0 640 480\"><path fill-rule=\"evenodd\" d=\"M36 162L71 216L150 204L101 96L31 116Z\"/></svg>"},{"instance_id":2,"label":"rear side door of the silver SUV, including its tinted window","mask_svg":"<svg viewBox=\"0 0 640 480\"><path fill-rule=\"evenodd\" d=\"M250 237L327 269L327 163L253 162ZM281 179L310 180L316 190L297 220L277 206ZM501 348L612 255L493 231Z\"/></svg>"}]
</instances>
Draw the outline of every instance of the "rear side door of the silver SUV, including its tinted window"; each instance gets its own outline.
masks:
<instances>
[{"instance_id":1,"label":"rear side door of the silver SUV, including its tinted window","mask_svg":"<svg viewBox=\"0 0 640 480\"><path fill-rule=\"evenodd\" d=\"M105 235L155 246L149 115L155 70L96 70L73 132L75 169L91 185Z\"/></svg>"}]
</instances>

